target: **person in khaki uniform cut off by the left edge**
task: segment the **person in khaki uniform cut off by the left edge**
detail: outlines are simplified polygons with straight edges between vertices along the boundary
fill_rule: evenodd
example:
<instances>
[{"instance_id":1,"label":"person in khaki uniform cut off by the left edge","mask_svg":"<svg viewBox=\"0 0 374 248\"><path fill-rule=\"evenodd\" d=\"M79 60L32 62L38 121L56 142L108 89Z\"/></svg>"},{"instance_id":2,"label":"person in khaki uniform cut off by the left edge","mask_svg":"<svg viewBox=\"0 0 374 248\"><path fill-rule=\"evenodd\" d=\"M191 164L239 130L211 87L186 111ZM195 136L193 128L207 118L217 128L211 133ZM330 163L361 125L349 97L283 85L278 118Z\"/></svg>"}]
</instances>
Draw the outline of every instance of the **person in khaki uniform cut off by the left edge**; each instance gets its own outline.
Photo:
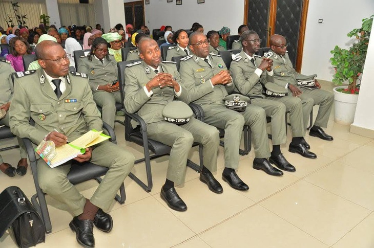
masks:
<instances>
[{"instance_id":1,"label":"person in khaki uniform cut off by the left edge","mask_svg":"<svg viewBox=\"0 0 374 248\"><path fill-rule=\"evenodd\" d=\"M12 73L14 73L14 69L10 65L10 62L0 59L0 111L5 111L5 116L0 118L0 125L6 125L7 127L9 127L9 107L14 93L11 77ZM27 154L25 145L22 142L22 139L18 137L17 141L19 145L19 155L21 157L17 169L8 163L4 163L3 157L0 154L0 170L8 176L14 176L16 172L23 176L27 171Z\"/></svg>"}]
</instances>

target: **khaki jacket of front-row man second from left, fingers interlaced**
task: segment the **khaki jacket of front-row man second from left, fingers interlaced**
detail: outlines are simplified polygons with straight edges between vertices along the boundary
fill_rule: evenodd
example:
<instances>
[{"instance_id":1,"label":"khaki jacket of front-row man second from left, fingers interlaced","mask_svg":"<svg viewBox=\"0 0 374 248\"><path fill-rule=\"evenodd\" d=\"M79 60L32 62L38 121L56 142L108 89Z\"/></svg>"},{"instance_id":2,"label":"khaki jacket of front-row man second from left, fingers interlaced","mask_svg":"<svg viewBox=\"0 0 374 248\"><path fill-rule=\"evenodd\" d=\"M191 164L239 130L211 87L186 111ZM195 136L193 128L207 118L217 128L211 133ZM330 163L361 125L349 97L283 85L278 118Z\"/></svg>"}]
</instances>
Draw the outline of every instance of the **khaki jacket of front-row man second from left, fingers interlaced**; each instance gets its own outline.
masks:
<instances>
[{"instance_id":1,"label":"khaki jacket of front-row man second from left, fingers interlaced","mask_svg":"<svg viewBox=\"0 0 374 248\"><path fill-rule=\"evenodd\" d=\"M180 76L175 62L162 61L160 63L160 72L169 73L173 75L177 82L180 82ZM162 109L174 100L174 88L153 88L153 95L148 97L143 87L151 81L156 74L144 61L139 61L138 64L127 67L124 74L124 107L126 110L130 113L137 112L147 124L164 120ZM180 87L182 92L178 100L188 103L188 91L186 91L182 85L180 85Z\"/></svg>"}]
</instances>

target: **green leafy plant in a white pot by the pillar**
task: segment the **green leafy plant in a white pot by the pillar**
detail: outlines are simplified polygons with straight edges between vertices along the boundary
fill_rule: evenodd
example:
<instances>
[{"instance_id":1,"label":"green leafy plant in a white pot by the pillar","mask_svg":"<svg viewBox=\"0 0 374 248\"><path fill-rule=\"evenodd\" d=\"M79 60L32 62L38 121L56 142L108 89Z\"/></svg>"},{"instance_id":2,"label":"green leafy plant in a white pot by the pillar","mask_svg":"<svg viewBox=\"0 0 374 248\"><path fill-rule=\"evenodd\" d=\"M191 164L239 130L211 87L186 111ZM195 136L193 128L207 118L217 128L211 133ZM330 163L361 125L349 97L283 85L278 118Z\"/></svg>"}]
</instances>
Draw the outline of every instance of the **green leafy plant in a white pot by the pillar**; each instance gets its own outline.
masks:
<instances>
[{"instance_id":1,"label":"green leafy plant in a white pot by the pillar","mask_svg":"<svg viewBox=\"0 0 374 248\"><path fill-rule=\"evenodd\" d=\"M335 121L341 124L351 124L354 121L360 84L358 79L364 69L366 52L370 38L374 15L362 20L362 27L350 31L348 37L356 37L356 41L348 49L335 46L330 58L335 74L333 82L347 86L334 88Z\"/></svg>"}]
</instances>

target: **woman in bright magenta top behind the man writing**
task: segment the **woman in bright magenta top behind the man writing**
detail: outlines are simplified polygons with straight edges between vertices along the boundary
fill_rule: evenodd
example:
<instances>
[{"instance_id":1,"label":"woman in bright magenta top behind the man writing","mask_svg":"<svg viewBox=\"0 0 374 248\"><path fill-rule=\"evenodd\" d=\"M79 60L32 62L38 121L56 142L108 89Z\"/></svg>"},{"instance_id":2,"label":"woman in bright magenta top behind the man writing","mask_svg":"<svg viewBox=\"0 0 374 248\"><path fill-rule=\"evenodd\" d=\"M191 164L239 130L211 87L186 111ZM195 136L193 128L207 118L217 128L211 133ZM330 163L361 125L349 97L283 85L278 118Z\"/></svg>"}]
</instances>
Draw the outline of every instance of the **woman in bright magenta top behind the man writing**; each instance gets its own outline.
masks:
<instances>
[{"instance_id":1,"label":"woman in bright magenta top behind the man writing","mask_svg":"<svg viewBox=\"0 0 374 248\"><path fill-rule=\"evenodd\" d=\"M9 54L7 56L7 60L10 61L14 71L25 71L24 62L22 60L22 56L25 54L34 54L27 40L23 37L11 38L9 42Z\"/></svg>"}]
</instances>

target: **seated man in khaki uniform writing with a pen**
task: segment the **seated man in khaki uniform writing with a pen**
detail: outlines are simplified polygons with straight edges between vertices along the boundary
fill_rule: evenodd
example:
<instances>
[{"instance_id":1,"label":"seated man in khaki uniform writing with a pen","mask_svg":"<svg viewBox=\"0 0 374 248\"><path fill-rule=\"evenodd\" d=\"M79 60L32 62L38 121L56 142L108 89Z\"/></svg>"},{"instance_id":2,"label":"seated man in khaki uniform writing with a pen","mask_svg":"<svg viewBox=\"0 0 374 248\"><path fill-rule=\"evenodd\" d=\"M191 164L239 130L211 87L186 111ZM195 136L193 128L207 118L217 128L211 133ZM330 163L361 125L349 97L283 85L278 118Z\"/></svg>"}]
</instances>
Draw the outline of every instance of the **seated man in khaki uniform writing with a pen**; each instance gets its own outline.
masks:
<instances>
[{"instance_id":1,"label":"seated man in khaki uniform writing with a pen","mask_svg":"<svg viewBox=\"0 0 374 248\"><path fill-rule=\"evenodd\" d=\"M69 74L69 57L65 50L57 42L45 40L37 45L35 54L41 69L29 71L27 76L18 76L14 83L9 121L11 131L34 144L44 139L58 147L89 130L102 130L88 77ZM34 126L29 124L30 119L35 122ZM74 214L69 226L76 232L78 243L94 247L93 224L100 231L111 231L113 220L105 212L109 211L120 185L133 168L134 156L105 141L86 148L85 154L74 160L90 161L109 168L91 199L86 199L68 181L66 176L72 161L51 168L39 159L38 181L43 192L66 204Z\"/></svg>"}]
</instances>

